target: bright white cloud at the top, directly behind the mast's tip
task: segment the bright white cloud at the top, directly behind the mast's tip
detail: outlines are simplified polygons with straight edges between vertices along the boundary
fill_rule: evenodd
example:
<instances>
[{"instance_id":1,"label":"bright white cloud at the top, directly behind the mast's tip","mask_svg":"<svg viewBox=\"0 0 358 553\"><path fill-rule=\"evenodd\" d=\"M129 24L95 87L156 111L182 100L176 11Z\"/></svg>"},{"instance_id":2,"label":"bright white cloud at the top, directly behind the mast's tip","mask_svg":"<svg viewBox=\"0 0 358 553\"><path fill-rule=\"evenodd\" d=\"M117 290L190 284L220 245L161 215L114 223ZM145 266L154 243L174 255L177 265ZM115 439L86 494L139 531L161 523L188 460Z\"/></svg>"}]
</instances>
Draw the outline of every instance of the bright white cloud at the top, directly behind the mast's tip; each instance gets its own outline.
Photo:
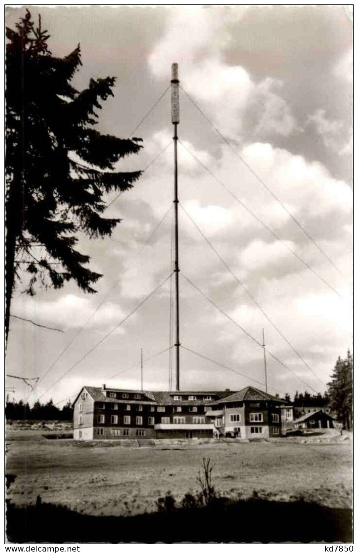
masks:
<instances>
[{"instance_id":1,"label":"bright white cloud at the top, directly behind the mast's tip","mask_svg":"<svg viewBox=\"0 0 358 553\"><path fill-rule=\"evenodd\" d=\"M244 12L245 8L228 11L226 17L218 18L213 9L172 9L164 35L149 56L150 69L156 77L164 78L172 61L178 62L180 70L183 67L183 88L231 138L243 138L243 118L248 109L256 113L256 135L287 136L297 124L277 93L282 82L264 79L256 84L243 66L224 60L227 19L238 20Z\"/></svg>"}]
</instances>

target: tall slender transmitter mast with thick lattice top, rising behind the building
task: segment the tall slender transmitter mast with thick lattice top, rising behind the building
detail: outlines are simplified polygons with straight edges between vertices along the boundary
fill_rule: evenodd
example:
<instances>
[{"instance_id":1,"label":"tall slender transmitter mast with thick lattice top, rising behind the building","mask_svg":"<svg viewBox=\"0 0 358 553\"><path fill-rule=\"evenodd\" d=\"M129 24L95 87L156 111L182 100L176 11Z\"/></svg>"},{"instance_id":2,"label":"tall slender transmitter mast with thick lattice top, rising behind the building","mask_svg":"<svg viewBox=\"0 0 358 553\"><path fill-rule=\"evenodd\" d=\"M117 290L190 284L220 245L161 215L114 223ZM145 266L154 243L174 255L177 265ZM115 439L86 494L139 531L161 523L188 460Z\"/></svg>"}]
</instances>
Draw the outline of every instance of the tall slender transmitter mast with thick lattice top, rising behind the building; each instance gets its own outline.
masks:
<instances>
[{"instance_id":1,"label":"tall slender transmitter mast with thick lattice top, rising behind the building","mask_svg":"<svg viewBox=\"0 0 358 553\"><path fill-rule=\"evenodd\" d=\"M171 112L172 124L174 125L174 216L175 216L175 313L176 313L176 390L180 390L179 378L179 253L178 253L178 134L177 126L179 123L179 80L178 64L172 64L171 79Z\"/></svg>"}]
</instances>

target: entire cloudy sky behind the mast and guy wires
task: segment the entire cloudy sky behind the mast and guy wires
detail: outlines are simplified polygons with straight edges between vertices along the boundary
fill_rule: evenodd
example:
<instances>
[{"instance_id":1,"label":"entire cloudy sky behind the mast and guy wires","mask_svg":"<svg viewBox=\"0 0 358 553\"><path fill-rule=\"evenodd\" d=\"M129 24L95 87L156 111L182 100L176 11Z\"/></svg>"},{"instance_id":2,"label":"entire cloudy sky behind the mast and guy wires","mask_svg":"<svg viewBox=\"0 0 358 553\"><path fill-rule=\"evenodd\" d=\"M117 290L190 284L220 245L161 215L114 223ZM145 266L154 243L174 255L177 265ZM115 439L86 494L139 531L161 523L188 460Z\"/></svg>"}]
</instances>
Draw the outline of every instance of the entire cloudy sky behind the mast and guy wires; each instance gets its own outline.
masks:
<instances>
[{"instance_id":1,"label":"entire cloudy sky behind the mast and guy wires","mask_svg":"<svg viewBox=\"0 0 358 553\"><path fill-rule=\"evenodd\" d=\"M349 10L40 8L53 54L81 44L78 89L91 77L118 77L100 113L104 133L132 135L169 86L172 62L179 64L181 343L222 364L182 348L182 389L262 388L262 328L282 362L267 356L271 393L323 393L337 357L351 347ZM39 8L30 11L35 18ZM7 25L23 14L7 8ZM83 384L138 388L140 349L146 360L170 346L170 279L120 324L171 273L170 110L168 90L135 130L141 153L118 165L151 164L108 208L123 220L112 238L81 237L90 267L104 274L98 293L72 284L38 289L34 298L21 285L15 292L14 315L64 330L11 321L8 373L40 377L30 402L67 400ZM144 362L144 388L168 389L169 374L167 351ZM10 398L27 397L20 380L6 385L15 388Z\"/></svg>"}]
</instances>

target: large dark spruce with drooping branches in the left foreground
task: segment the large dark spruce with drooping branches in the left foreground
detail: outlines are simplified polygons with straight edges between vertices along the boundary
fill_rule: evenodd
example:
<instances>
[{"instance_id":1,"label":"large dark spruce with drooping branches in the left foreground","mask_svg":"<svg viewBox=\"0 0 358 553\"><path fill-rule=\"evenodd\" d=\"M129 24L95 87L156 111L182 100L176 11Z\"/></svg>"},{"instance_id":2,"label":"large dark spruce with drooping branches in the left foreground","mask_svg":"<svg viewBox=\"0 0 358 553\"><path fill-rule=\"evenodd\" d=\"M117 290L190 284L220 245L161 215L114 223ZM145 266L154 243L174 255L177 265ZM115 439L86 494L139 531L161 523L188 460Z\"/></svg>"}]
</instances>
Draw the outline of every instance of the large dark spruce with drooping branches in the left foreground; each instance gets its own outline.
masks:
<instances>
[{"instance_id":1,"label":"large dark spruce with drooping branches in the left foreground","mask_svg":"<svg viewBox=\"0 0 358 553\"><path fill-rule=\"evenodd\" d=\"M27 267L34 284L61 288L75 280L88 293L102 276L84 267L90 257L75 249L78 233L110 236L120 219L106 218L107 192L127 190L141 171L119 173L114 164L138 153L139 138L101 134L96 110L113 96L115 77L91 79L77 91L72 77L80 45L65 58L48 47L49 34L27 11L7 28L6 49L6 336L10 300ZM44 255L36 252L41 245Z\"/></svg>"}]
</instances>

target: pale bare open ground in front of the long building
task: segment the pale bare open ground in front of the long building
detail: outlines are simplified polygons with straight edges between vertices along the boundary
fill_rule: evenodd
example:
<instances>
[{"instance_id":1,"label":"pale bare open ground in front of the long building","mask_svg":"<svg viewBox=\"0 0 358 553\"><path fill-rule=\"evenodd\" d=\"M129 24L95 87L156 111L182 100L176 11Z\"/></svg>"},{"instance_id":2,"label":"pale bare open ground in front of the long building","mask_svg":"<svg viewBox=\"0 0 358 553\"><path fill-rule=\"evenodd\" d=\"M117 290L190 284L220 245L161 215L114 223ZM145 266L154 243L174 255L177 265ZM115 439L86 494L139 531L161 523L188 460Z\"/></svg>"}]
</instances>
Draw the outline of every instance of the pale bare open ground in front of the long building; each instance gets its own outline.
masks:
<instances>
[{"instance_id":1,"label":"pale bare open ground in front of the long building","mask_svg":"<svg viewBox=\"0 0 358 553\"><path fill-rule=\"evenodd\" d=\"M215 488L225 497L254 493L351 507L352 444L345 436L257 443L165 441L132 448L113 441L48 440L45 433L51 434L47 429L7 431L6 473L16 476L8 498L15 505L34 504L40 495L43 502L85 514L150 512L168 491L177 501L197 491L205 456L214 465Z\"/></svg>"}]
</instances>

